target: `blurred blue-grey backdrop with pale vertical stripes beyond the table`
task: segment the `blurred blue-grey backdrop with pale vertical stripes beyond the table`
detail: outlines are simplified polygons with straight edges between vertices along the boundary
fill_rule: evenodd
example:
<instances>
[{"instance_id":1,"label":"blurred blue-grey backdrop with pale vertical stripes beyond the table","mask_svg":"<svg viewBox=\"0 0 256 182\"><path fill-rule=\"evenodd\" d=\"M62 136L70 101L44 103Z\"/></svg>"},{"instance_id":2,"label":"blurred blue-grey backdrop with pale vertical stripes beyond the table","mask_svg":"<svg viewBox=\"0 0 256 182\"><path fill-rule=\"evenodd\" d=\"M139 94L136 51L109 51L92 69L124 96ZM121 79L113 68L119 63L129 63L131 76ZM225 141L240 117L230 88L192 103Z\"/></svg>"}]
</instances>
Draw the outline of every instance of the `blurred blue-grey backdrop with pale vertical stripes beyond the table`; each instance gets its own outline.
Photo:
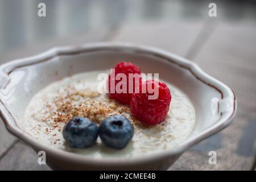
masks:
<instances>
[{"instance_id":1,"label":"blurred blue-grey backdrop with pale vertical stripes beyond the table","mask_svg":"<svg viewBox=\"0 0 256 182\"><path fill-rule=\"evenodd\" d=\"M38 16L41 2L46 4L46 17ZM217 17L208 15L210 2L217 3ZM56 42L63 45L102 41L127 26L134 27L138 36L136 29L143 24L150 29L151 24L154 28L168 27L173 22L255 23L255 3L253 0L0 0L0 53L26 46L42 49L44 43L56 46ZM147 34L150 30L144 31ZM172 34L171 29L168 31Z\"/></svg>"}]
</instances>

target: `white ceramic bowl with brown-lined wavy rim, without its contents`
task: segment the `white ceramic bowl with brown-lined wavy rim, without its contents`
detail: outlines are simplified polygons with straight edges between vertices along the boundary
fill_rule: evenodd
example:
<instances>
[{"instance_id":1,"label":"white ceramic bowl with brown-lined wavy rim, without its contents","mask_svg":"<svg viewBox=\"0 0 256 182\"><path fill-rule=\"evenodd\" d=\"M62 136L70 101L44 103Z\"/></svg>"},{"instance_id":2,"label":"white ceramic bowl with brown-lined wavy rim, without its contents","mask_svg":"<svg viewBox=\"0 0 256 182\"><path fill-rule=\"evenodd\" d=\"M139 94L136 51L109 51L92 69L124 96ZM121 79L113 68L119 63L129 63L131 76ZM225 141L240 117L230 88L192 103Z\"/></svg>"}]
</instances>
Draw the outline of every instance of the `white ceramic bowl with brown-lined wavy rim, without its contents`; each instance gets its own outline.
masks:
<instances>
[{"instance_id":1,"label":"white ceramic bowl with brown-lined wavy rim, without its contents","mask_svg":"<svg viewBox=\"0 0 256 182\"><path fill-rule=\"evenodd\" d=\"M39 143L16 125L31 98L51 82L76 73L109 69L119 61L133 61L145 73L159 73L192 101L196 124L191 135L174 148L143 157L95 159ZM162 49L130 43L94 43L58 47L0 67L0 110L7 130L34 150L46 151L52 169L167 169L193 144L224 129L236 113L236 96L196 64Z\"/></svg>"}]
</instances>

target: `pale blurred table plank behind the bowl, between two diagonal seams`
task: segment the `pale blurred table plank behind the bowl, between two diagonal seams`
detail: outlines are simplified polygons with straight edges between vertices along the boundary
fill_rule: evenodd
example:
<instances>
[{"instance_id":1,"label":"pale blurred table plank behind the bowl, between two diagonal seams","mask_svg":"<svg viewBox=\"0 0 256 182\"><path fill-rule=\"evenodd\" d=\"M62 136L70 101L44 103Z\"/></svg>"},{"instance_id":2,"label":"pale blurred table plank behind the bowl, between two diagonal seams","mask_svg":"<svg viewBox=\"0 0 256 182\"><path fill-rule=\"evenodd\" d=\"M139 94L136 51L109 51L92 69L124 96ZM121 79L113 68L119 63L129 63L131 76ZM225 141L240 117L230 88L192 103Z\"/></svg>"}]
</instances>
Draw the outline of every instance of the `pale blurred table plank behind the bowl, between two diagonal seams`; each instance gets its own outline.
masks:
<instances>
[{"instance_id":1,"label":"pale blurred table plank behind the bowl, between two diagonal seams","mask_svg":"<svg viewBox=\"0 0 256 182\"><path fill-rule=\"evenodd\" d=\"M154 46L185 56L203 26L203 21L128 24L121 28L113 41Z\"/></svg>"}]
</instances>

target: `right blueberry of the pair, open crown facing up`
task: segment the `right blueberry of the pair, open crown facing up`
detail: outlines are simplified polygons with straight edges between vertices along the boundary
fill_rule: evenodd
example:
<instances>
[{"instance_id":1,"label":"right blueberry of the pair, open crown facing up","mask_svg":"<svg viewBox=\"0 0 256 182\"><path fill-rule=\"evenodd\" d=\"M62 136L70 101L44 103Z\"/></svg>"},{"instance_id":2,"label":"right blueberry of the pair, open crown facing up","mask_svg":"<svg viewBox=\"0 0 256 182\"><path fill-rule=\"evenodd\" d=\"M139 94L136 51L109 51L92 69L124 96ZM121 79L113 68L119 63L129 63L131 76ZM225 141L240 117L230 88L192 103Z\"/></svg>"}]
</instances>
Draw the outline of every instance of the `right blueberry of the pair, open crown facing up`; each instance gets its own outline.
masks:
<instances>
[{"instance_id":1,"label":"right blueberry of the pair, open crown facing up","mask_svg":"<svg viewBox=\"0 0 256 182\"><path fill-rule=\"evenodd\" d=\"M113 115L101 122L98 132L106 146L124 148L133 138L134 128L123 115Z\"/></svg>"}]
</instances>

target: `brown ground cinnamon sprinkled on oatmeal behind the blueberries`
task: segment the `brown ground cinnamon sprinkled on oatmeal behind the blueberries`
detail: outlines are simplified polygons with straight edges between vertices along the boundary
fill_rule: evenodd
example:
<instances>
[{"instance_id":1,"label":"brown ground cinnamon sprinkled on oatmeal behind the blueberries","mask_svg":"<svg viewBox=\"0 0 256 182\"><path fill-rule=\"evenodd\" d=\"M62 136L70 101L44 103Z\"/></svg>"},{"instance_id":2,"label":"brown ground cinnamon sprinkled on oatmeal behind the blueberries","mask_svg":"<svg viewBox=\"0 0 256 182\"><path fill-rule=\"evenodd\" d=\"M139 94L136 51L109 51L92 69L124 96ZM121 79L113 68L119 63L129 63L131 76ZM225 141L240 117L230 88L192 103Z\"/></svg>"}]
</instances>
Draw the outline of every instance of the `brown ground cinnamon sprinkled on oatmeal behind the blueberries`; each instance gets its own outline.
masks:
<instances>
[{"instance_id":1,"label":"brown ground cinnamon sprinkled on oatmeal behind the blueberries","mask_svg":"<svg viewBox=\"0 0 256 182\"><path fill-rule=\"evenodd\" d=\"M127 105L119 104L112 100L106 94L92 92L91 90L76 90L67 88L66 94L57 96L53 103L46 104L49 110L47 117L43 121L53 121L51 129L57 128L58 131L63 129L73 117L86 117L100 124L105 118L114 114L123 114L126 117L130 115L130 108ZM131 117L130 121L136 123L136 119ZM50 132L46 129L47 133ZM55 135L52 135L56 137Z\"/></svg>"}]
</instances>

